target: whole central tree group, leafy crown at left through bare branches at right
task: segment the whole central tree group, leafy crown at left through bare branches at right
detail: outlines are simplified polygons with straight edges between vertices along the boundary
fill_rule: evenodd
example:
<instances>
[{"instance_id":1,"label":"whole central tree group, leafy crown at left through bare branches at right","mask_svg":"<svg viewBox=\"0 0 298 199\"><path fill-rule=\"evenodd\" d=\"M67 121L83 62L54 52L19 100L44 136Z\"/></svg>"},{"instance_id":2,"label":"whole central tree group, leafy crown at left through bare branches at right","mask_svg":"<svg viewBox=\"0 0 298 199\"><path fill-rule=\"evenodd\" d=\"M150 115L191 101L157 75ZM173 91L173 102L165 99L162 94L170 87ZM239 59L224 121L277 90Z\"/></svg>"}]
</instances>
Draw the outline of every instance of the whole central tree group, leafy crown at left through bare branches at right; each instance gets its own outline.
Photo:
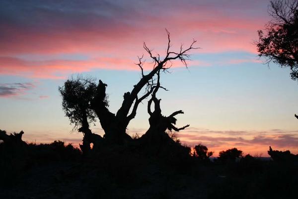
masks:
<instances>
[{"instance_id":1,"label":"whole central tree group, leafy crown at left through bare branches at right","mask_svg":"<svg viewBox=\"0 0 298 199\"><path fill-rule=\"evenodd\" d=\"M181 110L172 113L168 117L162 116L160 113L161 110L159 106L159 100L156 99L155 94L160 88L166 90L160 86L160 72L166 72L169 68L171 68L172 60L180 60L187 67L186 61L190 58L188 52L192 49L197 49L193 47L196 41L193 40L191 45L186 49L183 49L183 46L181 45L180 50L178 52L174 52L170 49L170 33L167 30L166 33L168 42L164 58L161 58L159 54L153 55L152 50L149 49L144 42L144 49L152 60L151 63L153 65L153 69L148 74L145 74L143 68L143 56L138 57L139 63L137 63L137 66L141 70L142 77L140 81L133 86L131 92L126 92L124 94L122 105L116 113L112 113L108 109L106 97L107 85L101 80L99 80L97 85L93 81L81 79L67 80L65 82L64 87L59 89L63 97L63 109L65 110L66 116L70 118L71 123L74 123L75 126L80 126L78 129L79 131L82 131L84 135L87 134L87 131L89 132L88 134L91 133L87 123L95 120L95 113L99 119L101 127L104 130L105 141L109 143L121 144L132 140L132 138L126 133L127 126L129 122L136 116L138 105L143 100L147 99L151 94L152 98L149 100L149 103L153 101L155 104L155 110L153 113L156 115L155 118L158 117L157 120L159 123L155 123L160 127L158 127L158 130L165 131L166 129L174 129L179 131L188 126L186 125L182 128L176 128L173 125L176 122L174 116L179 113L183 113ZM143 95L140 95L141 91L144 89L146 92ZM153 118L154 116L150 115L150 117ZM161 127L161 124L165 126Z\"/></svg>"}]
</instances>

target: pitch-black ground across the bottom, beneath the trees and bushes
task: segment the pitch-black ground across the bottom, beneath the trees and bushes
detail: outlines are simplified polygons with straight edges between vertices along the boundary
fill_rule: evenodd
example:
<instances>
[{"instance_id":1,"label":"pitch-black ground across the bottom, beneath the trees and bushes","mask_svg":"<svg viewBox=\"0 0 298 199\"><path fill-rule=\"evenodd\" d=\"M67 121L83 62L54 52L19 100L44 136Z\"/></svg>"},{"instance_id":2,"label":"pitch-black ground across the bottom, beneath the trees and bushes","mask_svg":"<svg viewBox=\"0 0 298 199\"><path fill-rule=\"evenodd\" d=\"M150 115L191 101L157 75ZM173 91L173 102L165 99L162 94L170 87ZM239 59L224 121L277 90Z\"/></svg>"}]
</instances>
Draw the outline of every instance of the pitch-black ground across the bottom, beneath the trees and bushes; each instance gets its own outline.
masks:
<instances>
[{"instance_id":1,"label":"pitch-black ground across the bottom, beneath the trees and bushes","mask_svg":"<svg viewBox=\"0 0 298 199\"><path fill-rule=\"evenodd\" d=\"M113 146L0 144L0 199L296 199L297 161L199 160Z\"/></svg>"}]
</instances>

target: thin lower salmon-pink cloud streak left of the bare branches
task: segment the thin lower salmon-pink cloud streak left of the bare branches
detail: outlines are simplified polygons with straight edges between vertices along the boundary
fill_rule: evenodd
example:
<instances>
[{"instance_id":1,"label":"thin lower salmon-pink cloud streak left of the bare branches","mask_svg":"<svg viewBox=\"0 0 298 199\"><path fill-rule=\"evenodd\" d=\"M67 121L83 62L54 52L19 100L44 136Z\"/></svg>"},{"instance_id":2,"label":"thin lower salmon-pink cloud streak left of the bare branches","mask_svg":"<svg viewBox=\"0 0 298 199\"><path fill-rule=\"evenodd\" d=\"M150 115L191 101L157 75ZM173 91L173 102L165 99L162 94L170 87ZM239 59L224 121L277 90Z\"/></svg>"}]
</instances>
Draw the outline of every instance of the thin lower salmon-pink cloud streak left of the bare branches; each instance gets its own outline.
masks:
<instances>
[{"instance_id":1,"label":"thin lower salmon-pink cloud streak left of the bare branches","mask_svg":"<svg viewBox=\"0 0 298 199\"><path fill-rule=\"evenodd\" d=\"M69 74L92 69L136 70L132 60L96 58L92 60L28 61L12 57L0 57L0 74L41 79L64 79Z\"/></svg>"}]
</instances>

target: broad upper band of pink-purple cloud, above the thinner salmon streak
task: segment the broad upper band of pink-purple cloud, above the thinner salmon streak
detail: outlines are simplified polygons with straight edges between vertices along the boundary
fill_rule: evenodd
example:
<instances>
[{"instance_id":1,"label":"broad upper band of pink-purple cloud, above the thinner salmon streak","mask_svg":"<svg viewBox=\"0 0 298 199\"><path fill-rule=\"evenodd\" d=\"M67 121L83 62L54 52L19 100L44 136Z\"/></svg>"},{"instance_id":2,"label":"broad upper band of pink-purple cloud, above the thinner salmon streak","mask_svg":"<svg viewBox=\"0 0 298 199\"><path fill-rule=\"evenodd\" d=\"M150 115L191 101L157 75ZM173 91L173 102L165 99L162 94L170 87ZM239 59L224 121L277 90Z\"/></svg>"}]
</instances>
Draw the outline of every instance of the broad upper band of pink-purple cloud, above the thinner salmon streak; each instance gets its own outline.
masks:
<instances>
[{"instance_id":1,"label":"broad upper band of pink-purple cloud, above the thinner salmon streak","mask_svg":"<svg viewBox=\"0 0 298 199\"><path fill-rule=\"evenodd\" d=\"M155 48L163 49L165 27L178 44L196 38L198 45L203 47L202 52L243 50L255 53L251 41L257 36L256 30L264 26L266 18L236 12L238 8L233 8L233 3L221 7L221 2L214 3L182 3L181 6L178 2L172 5L160 3L167 6L156 9L156 14L137 4L140 7L131 8L134 10L126 9L127 5L119 9L107 5L107 9L115 12L114 16L95 14L92 8L81 14L64 13L59 9L35 10L32 7L32 15L36 16L32 21L25 20L23 25L0 23L0 54L101 52L126 55L130 51L130 55L136 56L141 53L144 40ZM150 6L151 3L148 4ZM81 7L75 9L80 10ZM104 11L101 9L99 7L98 11ZM122 18L116 18L119 15Z\"/></svg>"}]
</instances>

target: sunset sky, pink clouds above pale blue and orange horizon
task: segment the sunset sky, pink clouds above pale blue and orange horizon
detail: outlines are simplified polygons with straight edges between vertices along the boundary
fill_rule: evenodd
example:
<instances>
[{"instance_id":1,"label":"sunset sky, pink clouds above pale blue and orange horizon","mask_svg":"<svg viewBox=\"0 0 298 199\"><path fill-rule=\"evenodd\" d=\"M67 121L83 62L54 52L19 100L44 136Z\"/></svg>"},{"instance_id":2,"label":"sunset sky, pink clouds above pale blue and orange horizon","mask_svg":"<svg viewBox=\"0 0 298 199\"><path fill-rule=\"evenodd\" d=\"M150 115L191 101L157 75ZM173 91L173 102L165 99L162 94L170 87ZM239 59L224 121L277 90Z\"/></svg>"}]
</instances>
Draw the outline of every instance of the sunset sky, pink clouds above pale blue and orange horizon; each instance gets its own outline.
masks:
<instances>
[{"instance_id":1,"label":"sunset sky, pink clouds above pale blue and orange horizon","mask_svg":"<svg viewBox=\"0 0 298 199\"><path fill-rule=\"evenodd\" d=\"M298 153L298 84L287 68L257 56L257 30L270 20L269 0L0 0L0 129L23 130L27 142L81 143L62 110L58 87L82 74L108 85L110 110L141 77L143 42L164 55L165 28L172 50L191 51L188 68L174 62L161 74L164 115L182 109L183 144L204 144L218 154L237 147L268 156ZM127 132L149 127L147 102ZM99 122L92 131L103 135Z\"/></svg>"}]
</instances>

